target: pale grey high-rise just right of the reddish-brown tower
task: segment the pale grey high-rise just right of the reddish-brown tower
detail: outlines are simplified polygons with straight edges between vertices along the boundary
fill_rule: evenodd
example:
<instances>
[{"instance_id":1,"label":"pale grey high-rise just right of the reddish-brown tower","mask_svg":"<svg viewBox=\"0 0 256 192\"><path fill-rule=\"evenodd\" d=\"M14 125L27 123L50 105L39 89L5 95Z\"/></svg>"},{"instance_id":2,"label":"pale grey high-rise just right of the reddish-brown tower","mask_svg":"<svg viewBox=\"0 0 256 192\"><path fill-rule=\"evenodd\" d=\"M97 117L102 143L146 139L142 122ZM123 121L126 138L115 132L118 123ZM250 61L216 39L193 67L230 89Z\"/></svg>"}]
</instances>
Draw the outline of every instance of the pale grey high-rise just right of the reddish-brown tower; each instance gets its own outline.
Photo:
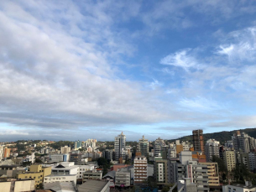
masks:
<instances>
[{"instance_id":1,"label":"pale grey high-rise just right of the reddish-brown tower","mask_svg":"<svg viewBox=\"0 0 256 192\"><path fill-rule=\"evenodd\" d=\"M220 157L219 145L220 143L217 142L215 139L208 139L206 141L206 161L212 161L213 156Z\"/></svg>"}]
</instances>

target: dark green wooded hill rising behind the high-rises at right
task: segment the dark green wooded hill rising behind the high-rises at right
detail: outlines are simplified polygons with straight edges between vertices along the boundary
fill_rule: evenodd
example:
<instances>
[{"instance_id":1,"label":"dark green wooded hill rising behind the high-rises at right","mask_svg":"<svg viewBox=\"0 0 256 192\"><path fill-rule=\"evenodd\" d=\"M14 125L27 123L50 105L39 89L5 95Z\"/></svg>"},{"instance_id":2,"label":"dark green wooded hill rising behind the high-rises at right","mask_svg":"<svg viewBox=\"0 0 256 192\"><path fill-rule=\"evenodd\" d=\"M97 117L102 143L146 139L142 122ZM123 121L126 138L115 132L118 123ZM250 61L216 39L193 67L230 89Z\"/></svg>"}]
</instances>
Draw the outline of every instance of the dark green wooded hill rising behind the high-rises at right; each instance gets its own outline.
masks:
<instances>
[{"instance_id":1,"label":"dark green wooded hill rising behind the high-rises at right","mask_svg":"<svg viewBox=\"0 0 256 192\"><path fill-rule=\"evenodd\" d=\"M246 128L246 129L238 129L238 130L233 130L230 132L212 132L212 133L205 133L204 134L204 140L208 140L210 138L214 138L215 140L219 141L221 144L224 144L226 141L231 140L231 137L233 135L234 132L236 131L240 131L245 132L248 134L248 136L252 137L252 138L256 138L256 128ZM177 138L180 139L181 141L189 141L192 142L192 135L188 135L188 136L184 136L181 138ZM169 143L173 143L175 142L176 139L171 139L171 140L167 140L167 142Z\"/></svg>"}]
</instances>

